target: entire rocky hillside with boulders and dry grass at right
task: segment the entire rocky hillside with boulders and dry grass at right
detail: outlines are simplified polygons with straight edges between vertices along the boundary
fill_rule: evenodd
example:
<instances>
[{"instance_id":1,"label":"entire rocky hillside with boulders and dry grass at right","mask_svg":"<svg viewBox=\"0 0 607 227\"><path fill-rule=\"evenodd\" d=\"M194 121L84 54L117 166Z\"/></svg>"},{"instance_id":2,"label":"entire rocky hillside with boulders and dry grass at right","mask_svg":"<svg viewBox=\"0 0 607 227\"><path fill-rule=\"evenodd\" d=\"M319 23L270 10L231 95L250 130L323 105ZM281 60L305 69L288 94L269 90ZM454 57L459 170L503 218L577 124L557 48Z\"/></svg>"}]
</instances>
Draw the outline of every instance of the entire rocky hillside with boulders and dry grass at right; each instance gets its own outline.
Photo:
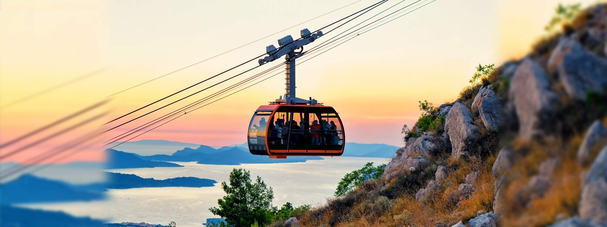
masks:
<instances>
[{"instance_id":1,"label":"entire rocky hillside with boulders and dry grass at right","mask_svg":"<svg viewBox=\"0 0 607 227\"><path fill-rule=\"evenodd\" d=\"M381 180L289 223L607 226L606 28L607 5L583 11L428 108Z\"/></svg>"}]
</instances>

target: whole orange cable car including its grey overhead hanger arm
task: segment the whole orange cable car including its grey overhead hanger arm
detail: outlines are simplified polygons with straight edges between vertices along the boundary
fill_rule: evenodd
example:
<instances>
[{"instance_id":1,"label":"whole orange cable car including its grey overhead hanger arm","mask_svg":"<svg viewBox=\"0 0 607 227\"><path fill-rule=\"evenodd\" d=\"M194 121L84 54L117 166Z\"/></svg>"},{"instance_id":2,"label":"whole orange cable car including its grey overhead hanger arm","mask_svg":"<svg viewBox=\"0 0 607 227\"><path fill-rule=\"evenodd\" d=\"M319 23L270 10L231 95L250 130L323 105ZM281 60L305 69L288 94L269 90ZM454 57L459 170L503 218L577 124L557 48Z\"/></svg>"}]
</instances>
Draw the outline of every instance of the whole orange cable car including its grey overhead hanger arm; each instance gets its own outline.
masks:
<instances>
[{"instance_id":1,"label":"whole orange cable car including its grey overhead hanger arm","mask_svg":"<svg viewBox=\"0 0 607 227\"><path fill-rule=\"evenodd\" d=\"M302 39L293 41L285 36L278 40L280 48L266 47L266 56L259 64L274 61L285 55L286 93L280 99L261 105L255 113L248 130L248 145L251 154L284 159L287 156L341 156L344 153L345 134L339 114L333 107L319 104L315 99L300 99L295 96L295 59L305 52L295 52L314 42L322 31L311 34L301 31Z\"/></svg>"}]
</instances>

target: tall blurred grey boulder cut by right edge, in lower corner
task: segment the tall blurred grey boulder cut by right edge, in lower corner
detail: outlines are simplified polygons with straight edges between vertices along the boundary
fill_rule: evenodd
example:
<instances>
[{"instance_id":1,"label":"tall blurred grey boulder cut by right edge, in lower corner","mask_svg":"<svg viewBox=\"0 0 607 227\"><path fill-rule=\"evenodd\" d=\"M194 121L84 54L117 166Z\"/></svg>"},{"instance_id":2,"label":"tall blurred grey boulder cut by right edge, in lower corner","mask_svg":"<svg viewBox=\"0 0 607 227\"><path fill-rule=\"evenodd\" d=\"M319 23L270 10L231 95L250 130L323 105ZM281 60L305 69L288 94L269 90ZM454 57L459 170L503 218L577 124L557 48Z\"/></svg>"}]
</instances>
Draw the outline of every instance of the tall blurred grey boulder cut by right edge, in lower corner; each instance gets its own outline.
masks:
<instances>
[{"instance_id":1,"label":"tall blurred grey boulder cut by right edge, in lower corner","mask_svg":"<svg viewBox=\"0 0 607 227\"><path fill-rule=\"evenodd\" d=\"M607 222L607 146L586 174L578 209L582 219Z\"/></svg>"}]
</instances>

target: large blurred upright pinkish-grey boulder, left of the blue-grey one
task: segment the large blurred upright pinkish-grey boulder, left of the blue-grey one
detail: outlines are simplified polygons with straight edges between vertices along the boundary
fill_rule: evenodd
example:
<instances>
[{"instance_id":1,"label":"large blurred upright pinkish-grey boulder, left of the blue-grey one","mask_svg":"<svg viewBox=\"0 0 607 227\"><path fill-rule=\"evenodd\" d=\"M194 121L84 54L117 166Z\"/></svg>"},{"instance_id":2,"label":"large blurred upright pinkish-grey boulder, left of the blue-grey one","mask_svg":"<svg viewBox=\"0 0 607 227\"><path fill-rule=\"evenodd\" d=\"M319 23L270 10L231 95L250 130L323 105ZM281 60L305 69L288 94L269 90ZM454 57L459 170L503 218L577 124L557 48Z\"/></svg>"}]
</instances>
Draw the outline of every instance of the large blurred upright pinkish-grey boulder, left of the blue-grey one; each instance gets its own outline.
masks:
<instances>
[{"instance_id":1,"label":"large blurred upright pinkish-grey boulder, left of the blue-grey one","mask_svg":"<svg viewBox=\"0 0 607 227\"><path fill-rule=\"evenodd\" d=\"M526 58L517 68L510 82L509 98L518 117L521 139L530 139L539 133L540 114L554 110L557 95L550 90L548 76L532 59Z\"/></svg>"}]
</instances>

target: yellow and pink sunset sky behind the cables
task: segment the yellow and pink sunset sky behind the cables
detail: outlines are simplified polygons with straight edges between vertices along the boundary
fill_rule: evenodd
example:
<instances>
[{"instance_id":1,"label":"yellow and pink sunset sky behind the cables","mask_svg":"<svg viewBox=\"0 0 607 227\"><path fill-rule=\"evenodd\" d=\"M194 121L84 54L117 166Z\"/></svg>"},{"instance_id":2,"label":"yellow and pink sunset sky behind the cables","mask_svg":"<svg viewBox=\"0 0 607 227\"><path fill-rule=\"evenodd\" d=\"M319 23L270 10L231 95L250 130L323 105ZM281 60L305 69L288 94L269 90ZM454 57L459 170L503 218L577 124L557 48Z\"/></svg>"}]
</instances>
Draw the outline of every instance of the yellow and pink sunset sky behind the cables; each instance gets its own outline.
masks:
<instances>
[{"instance_id":1,"label":"yellow and pink sunset sky behind the cables","mask_svg":"<svg viewBox=\"0 0 607 227\"><path fill-rule=\"evenodd\" d=\"M355 0L286 2L288 4L274 0L1 1L0 142L7 142L99 102L110 94ZM10 160L23 161L35 156L38 153L34 151L42 152L64 143L107 120L258 56L265 51L266 45L277 45L276 40L285 35L298 38L299 30L303 28L314 31L375 2L356 2L218 58L112 96L109 104L81 116L81 119L86 119L109 111L103 120L42 143L32 152ZM397 2L388 1L365 16L374 15ZM395 8L412 2L407 0ZM347 142L400 146L402 125L412 125L419 116L418 100L428 100L436 105L450 102L462 87L469 84L467 81L475 71L475 65L500 65L523 56L535 40L546 35L543 27L554 14L558 2L588 5L595 1L437 0L297 66L297 94L302 98L311 96L336 108L344 122ZM348 25L358 24L367 18L365 16ZM324 41L323 38L319 43ZM256 65L257 61L249 62L180 93L178 97ZM274 62L254 72L273 65ZM90 74L93 72L96 73ZM15 104L15 100L87 74L90 76ZM253 72L243 74L148 117L162 116L251 75ZM164 139L213 146L244 143L253 111L283 93L283 74L279 74L135 140ZM146 112L130 117L143 113ZM135 121L129 124L130 127L118 128L109 136L131 130L138 126L137 123L151 119ZM69 125L66 123L63 127ZM50 132L53 130L47 133ZM38 138L30 138L29 141ZM12 147L16 148L19 146ZM120 147L116 149L120 150ZM10 150L7 148L2 152ZM70 160L97 160L101 157L99 154L81 153Z\"/></svg>"}]
</instances>

